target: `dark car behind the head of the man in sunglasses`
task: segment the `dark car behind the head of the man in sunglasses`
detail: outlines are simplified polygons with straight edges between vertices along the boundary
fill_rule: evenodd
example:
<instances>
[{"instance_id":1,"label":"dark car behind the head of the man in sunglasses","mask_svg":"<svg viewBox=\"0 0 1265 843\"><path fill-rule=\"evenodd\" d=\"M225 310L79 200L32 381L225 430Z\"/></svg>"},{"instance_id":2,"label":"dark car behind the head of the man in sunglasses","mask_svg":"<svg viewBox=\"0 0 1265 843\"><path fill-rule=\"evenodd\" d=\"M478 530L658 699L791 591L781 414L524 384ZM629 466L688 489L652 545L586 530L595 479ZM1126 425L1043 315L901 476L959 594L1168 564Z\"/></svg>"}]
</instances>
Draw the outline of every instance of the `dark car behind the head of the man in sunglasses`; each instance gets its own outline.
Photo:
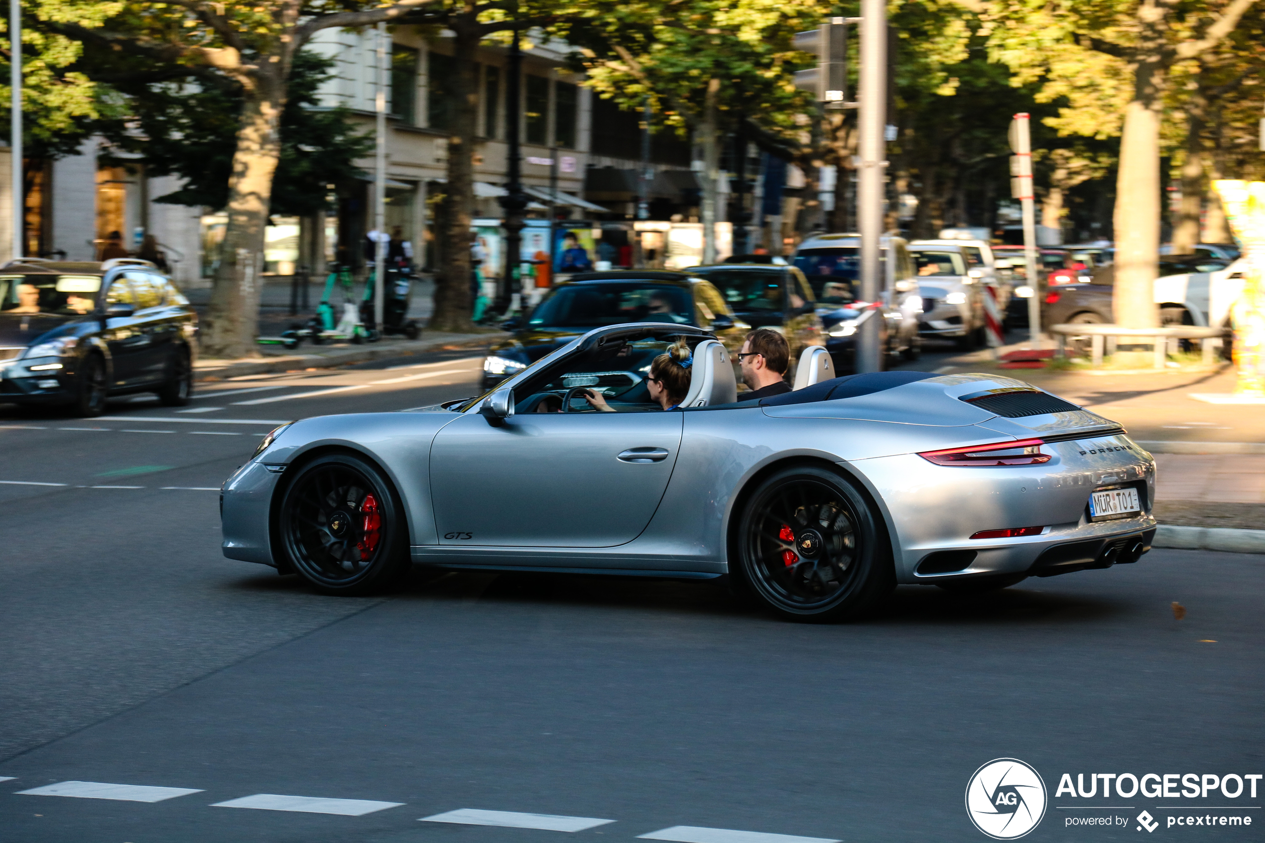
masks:
<instances>
[{"instance_id":1,"label":"dark car behind the head of the man in sunglasses","mask_svg":"<svg viewBox=\"0 0 1265 843\"><path fill-rule=\"evenodd\" d=\"M787 378L792 382L801 353L810 345L825 345L816 297L808 279L794 267L784 263L726 262L691 267L683 272L716 287L739 321L753 329L772 327L787 337L791 346L791 370L787 372ZM731 349L731 353L736 354L737 349Z\"/></svg>"}]
</instances>

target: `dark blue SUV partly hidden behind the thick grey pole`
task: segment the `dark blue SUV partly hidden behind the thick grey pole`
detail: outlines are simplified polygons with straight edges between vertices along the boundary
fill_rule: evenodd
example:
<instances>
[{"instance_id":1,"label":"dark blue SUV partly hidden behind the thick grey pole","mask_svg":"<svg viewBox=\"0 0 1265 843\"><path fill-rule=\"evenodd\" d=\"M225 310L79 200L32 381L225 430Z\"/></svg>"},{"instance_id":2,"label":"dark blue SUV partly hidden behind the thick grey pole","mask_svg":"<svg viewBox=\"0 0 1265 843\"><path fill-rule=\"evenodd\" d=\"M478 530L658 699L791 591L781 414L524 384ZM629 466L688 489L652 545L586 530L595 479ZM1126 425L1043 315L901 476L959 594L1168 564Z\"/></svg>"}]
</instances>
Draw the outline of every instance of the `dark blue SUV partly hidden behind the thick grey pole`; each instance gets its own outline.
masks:
<instances>
[{"instance_id":1,"label":"dark blue SUV partly hidden behind the thick grey pole","mask_svg":"<svg viewBox=\"0 0 1265 843\"><path fill-rule=\"evenodd\" d=\"M860 297L861 241L855 234L821 234L805 240L792 262L808 279L817 300L817 313L826 331L826 350L836 372L855 369L855 335L865 313L878 313L884 360L915 360L922 351L918 313L922 297L913 274L913 260L902 238L879 240L882 289L878 302Z\"/></svg>"}]
</instances>

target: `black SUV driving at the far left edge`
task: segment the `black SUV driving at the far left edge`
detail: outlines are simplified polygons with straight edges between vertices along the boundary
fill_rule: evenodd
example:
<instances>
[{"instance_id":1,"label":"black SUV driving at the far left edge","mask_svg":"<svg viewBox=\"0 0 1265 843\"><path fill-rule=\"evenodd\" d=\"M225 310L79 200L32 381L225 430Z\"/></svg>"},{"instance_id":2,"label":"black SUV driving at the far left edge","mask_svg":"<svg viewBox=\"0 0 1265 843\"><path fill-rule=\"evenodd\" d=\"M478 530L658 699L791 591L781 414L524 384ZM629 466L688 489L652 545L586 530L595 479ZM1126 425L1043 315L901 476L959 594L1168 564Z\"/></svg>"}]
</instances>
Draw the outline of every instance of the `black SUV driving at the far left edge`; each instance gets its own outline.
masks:
<instances>
[{"instance_id":1,"label":"black SUV driving at the far left edge","mask_svg":"<svg viewBox=\"0 0 1265 843\"><path fill-rule=\"evenodd\" d=\"M110 396L192 392L197 313L147 260L0 267L0 403L99 416Z\"/></svg>"}]
</instances>

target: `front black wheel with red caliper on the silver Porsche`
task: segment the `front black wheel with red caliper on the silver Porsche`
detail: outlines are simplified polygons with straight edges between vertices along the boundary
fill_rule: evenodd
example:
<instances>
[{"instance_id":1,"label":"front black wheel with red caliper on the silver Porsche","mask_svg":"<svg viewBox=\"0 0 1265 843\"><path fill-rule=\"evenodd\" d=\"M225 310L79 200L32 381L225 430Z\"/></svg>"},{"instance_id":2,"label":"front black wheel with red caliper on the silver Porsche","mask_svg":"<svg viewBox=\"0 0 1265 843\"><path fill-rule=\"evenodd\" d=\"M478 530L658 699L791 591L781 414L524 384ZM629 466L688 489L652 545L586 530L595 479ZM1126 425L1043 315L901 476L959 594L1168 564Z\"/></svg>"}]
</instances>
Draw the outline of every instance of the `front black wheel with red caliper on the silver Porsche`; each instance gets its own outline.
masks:
<instances>
[{"instance_id":1,"label":"front black wheel with red caliper on the silver Porsche","mask_svg":"<svg viewBox=\"0 0 1265 843\"><path fill-rule=\"evenodd\" d=\"M300 576L325 594L354 595L388 588L409 570L404 508L376 466L330 454L291 470L278 535Z\"/></svg>"}]
</instances>

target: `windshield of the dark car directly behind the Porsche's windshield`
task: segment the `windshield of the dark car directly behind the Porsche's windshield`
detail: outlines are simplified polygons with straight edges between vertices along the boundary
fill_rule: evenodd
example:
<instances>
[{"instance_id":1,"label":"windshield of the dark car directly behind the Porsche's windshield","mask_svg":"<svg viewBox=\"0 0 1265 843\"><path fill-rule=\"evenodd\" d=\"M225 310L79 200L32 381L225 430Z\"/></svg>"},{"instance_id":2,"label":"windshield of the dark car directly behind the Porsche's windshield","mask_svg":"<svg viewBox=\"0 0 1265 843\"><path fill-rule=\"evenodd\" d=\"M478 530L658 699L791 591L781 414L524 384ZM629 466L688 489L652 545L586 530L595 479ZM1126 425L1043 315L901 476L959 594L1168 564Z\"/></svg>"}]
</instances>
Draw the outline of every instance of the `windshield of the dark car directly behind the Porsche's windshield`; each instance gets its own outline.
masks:
<instances>
[{"instance_id":1,"label":"windshield of the dark car directly behind the Porsche's windshield","mask_svg":"<svg viewBox=\"0 0 1265 843\"><path fill-rule=\"evenodd\" d=\"M621 322L693 325L684 287L644 281L581 282L559 287L531 313L531 327L593 329Z\"/></svg>"}]
</instances>

